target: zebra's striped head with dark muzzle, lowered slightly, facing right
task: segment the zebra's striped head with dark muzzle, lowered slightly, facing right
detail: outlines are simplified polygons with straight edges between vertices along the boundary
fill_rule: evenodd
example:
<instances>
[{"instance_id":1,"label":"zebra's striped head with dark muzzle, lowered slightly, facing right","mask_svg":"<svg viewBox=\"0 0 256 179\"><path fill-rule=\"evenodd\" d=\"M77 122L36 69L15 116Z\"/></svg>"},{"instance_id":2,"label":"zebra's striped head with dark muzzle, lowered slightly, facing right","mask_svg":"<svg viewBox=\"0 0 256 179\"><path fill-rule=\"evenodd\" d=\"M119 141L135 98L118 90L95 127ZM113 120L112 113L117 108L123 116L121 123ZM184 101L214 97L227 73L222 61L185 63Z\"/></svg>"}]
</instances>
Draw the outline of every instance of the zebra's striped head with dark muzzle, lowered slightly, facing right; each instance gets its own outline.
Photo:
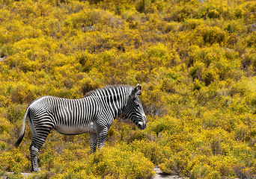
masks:
<instances>
[{"instance_id":1,"label":"zebra's striped head with dark muzzle, lowered slightly, facing right","mask_svg":"<svg viewBox=\"0 0 256 179\"><path fill-rule=\"evenodd\" d=\"M147 127L147 118L138 95L141 95L140 84L137 84L129 95L127 106L124 108L124 114L129 117L139 129L143 130Z\"/></svg>"}]
</instances>

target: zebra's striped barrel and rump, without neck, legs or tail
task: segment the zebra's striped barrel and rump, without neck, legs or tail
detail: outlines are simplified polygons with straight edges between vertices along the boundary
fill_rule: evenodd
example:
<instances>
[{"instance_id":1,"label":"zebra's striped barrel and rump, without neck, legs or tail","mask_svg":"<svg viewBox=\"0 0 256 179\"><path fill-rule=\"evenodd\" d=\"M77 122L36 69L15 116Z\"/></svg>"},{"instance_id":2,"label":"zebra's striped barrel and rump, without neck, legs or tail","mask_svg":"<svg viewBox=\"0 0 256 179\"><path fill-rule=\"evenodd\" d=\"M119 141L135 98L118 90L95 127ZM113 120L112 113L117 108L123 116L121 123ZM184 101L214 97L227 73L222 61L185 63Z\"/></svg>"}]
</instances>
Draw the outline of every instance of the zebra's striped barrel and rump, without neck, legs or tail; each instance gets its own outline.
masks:
<instances>
[{"instance_id":1,"label":"zebra's striped barrel and rump, without neck, legs or tail","mask_svg":"<svg viewBox=\"0 0 256 179\"><path fill-rule=\"evenodd\" d=\"M39 110L40 113L37 113ZM52 128L61 134L82 134L92 130L91 123L100 115L101 110L98 101L91 98L46 96L31 104L30 118L34 119L34 131L39 131L43 122L44 128ZM65 128L70 129L66 131Z\"/></svg>"}]
</instances>

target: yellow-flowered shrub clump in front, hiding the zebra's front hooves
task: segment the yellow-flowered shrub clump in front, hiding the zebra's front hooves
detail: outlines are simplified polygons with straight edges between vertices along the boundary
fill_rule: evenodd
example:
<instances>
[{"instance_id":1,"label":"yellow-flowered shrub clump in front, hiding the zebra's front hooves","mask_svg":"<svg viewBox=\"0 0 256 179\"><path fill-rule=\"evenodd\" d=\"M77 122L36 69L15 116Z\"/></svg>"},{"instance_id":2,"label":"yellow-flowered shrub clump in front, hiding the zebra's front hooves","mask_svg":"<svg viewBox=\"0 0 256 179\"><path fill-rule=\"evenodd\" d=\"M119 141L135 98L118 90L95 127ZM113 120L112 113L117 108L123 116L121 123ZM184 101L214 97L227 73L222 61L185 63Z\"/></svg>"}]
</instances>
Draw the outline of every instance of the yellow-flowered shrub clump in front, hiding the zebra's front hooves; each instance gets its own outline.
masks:
<instances>
[{"instance_id":1,"label":"yellow-flowered shrub clump in front, hiding the zebra's front hooves","mask_svg":"<svg viewBox=\"0 0 256 179\"><path fill-rule=\"evenodd\" d=\"M54 178L152 177L153 163L141 152L124 146L106 146L95 154L82 148L65 149L61 154L49 150L40 156L40 163L43 169L55 173Z\"/></svg>"}]
</instances>

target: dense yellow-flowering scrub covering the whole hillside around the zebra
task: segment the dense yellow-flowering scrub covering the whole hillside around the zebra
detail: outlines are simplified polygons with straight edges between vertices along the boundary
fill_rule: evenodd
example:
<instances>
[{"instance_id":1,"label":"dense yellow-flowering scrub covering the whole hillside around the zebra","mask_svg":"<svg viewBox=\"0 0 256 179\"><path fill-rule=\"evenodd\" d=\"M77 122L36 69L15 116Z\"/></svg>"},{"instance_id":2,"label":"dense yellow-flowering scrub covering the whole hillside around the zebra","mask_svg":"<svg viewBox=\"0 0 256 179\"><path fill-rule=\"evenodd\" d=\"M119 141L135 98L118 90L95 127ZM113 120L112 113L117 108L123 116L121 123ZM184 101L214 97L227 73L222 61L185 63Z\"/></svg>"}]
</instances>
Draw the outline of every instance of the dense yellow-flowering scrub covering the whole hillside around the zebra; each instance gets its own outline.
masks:
<instances>
[{"instance_id":1,"label":"dense yellow-flowering scrub covering the whole hillside around the zebra","mask_svg":"<svg viewBox=\"0 0 256 179\"><path fill-rule=\"evenodd\" d=\"M0 0L0 175L31 170L22 117L42 95L142 85L148 127L116 119L102 151L52 131L41 178L256 177L256 2Z\"/></svg>"}]
</instances>

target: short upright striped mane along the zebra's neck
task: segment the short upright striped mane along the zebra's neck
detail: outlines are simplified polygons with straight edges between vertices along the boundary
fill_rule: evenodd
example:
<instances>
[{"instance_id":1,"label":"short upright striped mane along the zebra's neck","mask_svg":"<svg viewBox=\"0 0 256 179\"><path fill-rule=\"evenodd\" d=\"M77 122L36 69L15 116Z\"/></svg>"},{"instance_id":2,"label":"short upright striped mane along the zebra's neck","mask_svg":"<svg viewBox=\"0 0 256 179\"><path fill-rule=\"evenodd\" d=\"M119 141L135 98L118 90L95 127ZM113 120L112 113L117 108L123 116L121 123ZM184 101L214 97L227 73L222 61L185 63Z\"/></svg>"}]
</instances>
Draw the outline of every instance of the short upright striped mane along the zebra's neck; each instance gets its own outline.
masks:
<instances>
[{"instance_id":1,"label":"short upright striped mane along the zebra's neck","mask_svg":"<svg viewBox=\"0 0 256 179\"><path fill-rule=\"evenodd\" d=\"M106 91L113 91L114 92L114 89L115 91L118 91L119 94L121 94L121 92L126 92L128 94L128 91L131 92L132 91L132 88L131 86L128 86L128 85L115 85L115 86L108 86L108 87L103 87L103 88L99 88L97 90L93 90L91 92L88 92L88 94L85 95L85 97L89 97L89 96L99 96L100 93L105 93ZM122 89L122 90L120 90ZM85 98L84 97L84 98ZM103 97L103 96L100 96L100 97Z\"/></svg>"}]
</instances>

